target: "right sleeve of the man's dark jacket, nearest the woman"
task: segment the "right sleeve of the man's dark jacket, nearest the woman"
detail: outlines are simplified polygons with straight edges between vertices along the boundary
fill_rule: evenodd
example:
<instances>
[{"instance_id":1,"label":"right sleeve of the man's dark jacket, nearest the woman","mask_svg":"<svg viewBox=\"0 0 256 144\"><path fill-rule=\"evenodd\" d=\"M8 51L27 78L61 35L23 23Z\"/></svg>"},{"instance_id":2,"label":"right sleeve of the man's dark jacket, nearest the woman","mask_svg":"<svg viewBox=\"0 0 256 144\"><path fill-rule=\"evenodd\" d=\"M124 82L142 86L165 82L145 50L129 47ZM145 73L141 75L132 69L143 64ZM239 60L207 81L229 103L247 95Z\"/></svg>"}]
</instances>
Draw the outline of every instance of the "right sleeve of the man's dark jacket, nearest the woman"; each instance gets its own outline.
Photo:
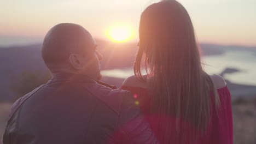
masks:
<instances>
[{"instance_id":1,"label":"right sleeve of the man's dark jacket, nearest the woman","mask_svg":"<svg viewBox=\"0 0 256 144\"><path fill-rule=\"evenodd\" d=\"M158 143L146 118L139 110L139 103L130 92L123 95L119 115L119 131L114 143Z\"/></svg>"}]
</instances>

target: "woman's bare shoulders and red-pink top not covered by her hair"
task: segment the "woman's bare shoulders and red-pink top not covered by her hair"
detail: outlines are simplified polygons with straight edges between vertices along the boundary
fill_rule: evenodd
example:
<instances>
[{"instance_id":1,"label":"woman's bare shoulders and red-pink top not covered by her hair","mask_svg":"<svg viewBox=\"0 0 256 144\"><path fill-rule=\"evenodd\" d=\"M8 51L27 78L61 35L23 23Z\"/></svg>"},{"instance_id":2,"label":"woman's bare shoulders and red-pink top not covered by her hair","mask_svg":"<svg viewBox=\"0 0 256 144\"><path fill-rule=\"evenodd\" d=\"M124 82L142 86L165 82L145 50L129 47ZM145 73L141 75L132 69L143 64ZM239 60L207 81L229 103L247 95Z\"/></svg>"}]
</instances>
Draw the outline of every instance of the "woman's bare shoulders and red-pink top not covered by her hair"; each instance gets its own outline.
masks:
<instances>
[{"instance_id":1,"label":"woman's bare shoulders and red-pink top not covered by her hair","mask_svg":"<svg viewBox=\"0 0 256 144\"><path fill-rule=\"evenodd\" d=\"M219 95L220 106L217 108L215 104L211 104L211 116L210 122L205 135L199 137L196 141L192 143L220 143L220 144L229 144L232 143L232 111L231 111L231 98L228 87L225 86L225 81L222 77L218 75L211 76L214 85L217 88ZM186 122L184 120L178 119L176 116L166 115L161 116L160 121L158 115L150 113L150 97L149 90L147 88L147 83L139 81L135 76L131 76L126 79L123 83L121 89L126 89L131 91L134 94L134 97L137 99L137 104L141 106L141 110L146 115L152 129L155 132L156 137L161 141L161 133L158 131L167 131L166 133L170 134L170 143L181 143L182 135L188 133L198 133L193 130L193 124ZM214 95L212 92L212 103L214 103ZM217 109L216 109L217 108ZM156 121L156 119L158 119ZM181 133L177 133L175 127L177 121L180 123L180 127L183 127ZM159 122L161 124L168 124L169 127L173 129L164 129L158 127ZM200 133L200 132L199 132ZM189 139L185 140L184 143L187 143Z\"/></svg>"}]
</instances>

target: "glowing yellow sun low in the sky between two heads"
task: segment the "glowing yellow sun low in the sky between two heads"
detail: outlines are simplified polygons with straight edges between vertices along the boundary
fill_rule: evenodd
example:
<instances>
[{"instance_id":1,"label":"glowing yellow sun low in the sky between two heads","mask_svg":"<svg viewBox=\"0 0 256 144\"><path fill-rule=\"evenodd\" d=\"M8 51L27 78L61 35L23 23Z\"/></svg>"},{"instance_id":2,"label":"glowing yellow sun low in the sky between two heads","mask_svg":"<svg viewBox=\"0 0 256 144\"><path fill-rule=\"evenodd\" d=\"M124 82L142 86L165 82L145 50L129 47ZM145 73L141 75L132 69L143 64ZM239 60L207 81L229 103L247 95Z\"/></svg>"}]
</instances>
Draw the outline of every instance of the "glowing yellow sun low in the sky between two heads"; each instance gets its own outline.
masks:
<instances>
[{"instance_id":1,"label":"glowing yellow sun low in the sky between two heads","mask_svg":"<svg viewBox=\"0 0 256 144\"><path fill-rule=\"evenodd\" d=\"M134 32L131 26L117 24L109 27L107 37L116 43L123 43L133 38Z\"/></svg>"}]
</instances>

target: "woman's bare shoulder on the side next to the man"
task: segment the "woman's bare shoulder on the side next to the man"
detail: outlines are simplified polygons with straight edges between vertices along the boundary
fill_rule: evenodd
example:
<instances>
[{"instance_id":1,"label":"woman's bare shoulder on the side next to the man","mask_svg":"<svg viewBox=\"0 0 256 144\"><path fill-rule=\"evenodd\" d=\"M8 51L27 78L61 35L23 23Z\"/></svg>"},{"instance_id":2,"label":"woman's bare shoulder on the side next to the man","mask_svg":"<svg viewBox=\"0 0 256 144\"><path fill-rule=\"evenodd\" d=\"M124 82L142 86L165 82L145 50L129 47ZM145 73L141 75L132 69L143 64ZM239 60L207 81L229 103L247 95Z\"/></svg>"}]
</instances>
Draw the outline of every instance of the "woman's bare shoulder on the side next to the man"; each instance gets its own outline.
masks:
<instances>
[{"instance_id":1,"label":"woman's bare shoulder on the side next to the man","mask_svg":"<svg viewBox=\"0 0 256 144\"><path fill-rule=\"evenodd\" d=\"M132 75L124 80L122 86L147 88L147 83L137 79L134 75Z\"/></svg>"}]
</instances>

